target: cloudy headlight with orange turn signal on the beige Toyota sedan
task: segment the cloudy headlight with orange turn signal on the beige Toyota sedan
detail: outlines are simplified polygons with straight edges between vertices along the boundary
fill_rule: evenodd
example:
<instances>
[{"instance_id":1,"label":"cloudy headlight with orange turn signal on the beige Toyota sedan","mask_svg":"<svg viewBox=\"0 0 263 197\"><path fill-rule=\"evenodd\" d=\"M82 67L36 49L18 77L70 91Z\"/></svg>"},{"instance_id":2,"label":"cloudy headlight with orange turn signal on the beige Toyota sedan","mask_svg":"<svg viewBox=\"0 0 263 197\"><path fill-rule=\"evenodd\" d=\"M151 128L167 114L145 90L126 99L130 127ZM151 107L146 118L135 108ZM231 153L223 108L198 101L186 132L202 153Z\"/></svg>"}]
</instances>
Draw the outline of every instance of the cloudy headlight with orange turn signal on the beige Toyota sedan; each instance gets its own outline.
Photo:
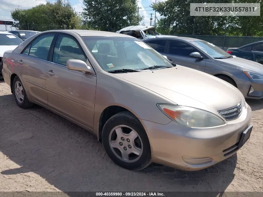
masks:
<instances>
[{"instance_id":1,"label":"cloudy headlight with orange turn signal on the beige Toyota sedan","mask_svg":"<svg viewBox=\"0 0 263 197\"><path fill-rule=\"evenodd\" d=\"M216 127L226 124L219 116L205 110L179 105L157 105L176 122L193 128Z\"/></svg>"}]
</instances>

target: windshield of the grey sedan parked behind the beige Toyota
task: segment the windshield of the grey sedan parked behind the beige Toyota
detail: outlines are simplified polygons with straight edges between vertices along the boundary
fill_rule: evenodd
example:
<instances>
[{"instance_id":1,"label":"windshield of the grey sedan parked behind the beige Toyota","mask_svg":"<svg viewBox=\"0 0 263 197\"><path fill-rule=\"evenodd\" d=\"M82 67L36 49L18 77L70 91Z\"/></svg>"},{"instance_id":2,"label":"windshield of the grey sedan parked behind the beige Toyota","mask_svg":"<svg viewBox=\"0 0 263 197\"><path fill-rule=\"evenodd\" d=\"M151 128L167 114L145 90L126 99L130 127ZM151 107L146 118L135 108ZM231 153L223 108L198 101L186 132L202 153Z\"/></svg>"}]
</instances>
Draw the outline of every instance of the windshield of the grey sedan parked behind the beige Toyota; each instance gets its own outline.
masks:
<instances>
[{"instance_id":1,"label":"windshield of the grey sedan parked behind the beige Toyota","mask_svg":"<svg viewBox=\"0 0 263 197\"><path fill-rule=\"evenodd\" d=\"M196 47L202 49L213 58L228 58L229 54L216 45L206 41L191 41Z\"/></svg>"}]
</instances>

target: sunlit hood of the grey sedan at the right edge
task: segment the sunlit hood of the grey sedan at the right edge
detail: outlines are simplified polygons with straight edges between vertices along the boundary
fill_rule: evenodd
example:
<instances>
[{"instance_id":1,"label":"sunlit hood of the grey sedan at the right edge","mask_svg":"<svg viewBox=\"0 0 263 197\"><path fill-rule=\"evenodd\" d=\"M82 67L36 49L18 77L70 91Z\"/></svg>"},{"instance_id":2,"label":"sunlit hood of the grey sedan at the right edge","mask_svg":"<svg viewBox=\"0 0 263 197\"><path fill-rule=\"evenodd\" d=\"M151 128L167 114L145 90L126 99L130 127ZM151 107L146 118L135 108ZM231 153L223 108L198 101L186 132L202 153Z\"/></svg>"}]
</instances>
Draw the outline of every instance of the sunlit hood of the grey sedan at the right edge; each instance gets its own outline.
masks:
<instances>
[{"instance_id":1,"label":"sunlit hood of the grey sedan at the right edge","mask_svg":"<svg viewBox=\"0 0 263 197\"><path fill-rule=\"evenodd\" d=\"M243 58L227 58L227 59L216 59L218 63L226 63L231 66L235 66L239 68L240 70L252 72L252 73L258 73L263 74L263 65L257 62L253 62L248 59Z\"/></svg>"}]
</instances>

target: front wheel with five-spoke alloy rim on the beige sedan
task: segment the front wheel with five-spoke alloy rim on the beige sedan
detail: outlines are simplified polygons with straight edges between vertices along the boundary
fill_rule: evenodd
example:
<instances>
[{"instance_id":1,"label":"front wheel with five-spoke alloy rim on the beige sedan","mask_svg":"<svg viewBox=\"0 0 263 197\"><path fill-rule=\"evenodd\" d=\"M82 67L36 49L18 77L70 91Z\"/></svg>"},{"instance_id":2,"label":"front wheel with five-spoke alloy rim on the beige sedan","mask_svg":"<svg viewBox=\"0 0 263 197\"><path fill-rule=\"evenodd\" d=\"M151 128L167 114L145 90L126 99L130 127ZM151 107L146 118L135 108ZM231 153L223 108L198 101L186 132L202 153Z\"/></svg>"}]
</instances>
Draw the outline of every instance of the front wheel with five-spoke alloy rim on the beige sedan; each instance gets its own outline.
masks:
<instances>
[{"instance_id":1,"label":"front wheel with five-spoke alloy rim on the beige sedan","mask_svg":"<svg viewBox=\"0 0 263 197\"><path fill-rule=\"evenodd\" d=\"M129 111L113 115L102 130L106 153L120 167L141 170L151 163L151 148L140 121Z\"/></svg>"}]
</instances>

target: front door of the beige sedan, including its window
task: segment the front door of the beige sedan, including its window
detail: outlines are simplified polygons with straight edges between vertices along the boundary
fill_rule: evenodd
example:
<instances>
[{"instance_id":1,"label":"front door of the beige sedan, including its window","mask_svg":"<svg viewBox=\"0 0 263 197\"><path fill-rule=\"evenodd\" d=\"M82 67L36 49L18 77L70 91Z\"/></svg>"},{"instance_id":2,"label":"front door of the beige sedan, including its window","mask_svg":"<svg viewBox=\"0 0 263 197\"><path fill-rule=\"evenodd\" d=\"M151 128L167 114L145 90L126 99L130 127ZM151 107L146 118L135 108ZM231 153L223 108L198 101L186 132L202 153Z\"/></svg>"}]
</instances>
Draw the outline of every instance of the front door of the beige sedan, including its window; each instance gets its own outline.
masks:
<instances>
[{"instance_id":1,"label":"front door of the beige sedan, including its window","mask_svg":"<svg viewBox=\"0 0 263 197\"><path fill-rule=\"evenodd\" d=\"M59 34L47 66L48 106L69 118L93 128L96 76L66 67L68 59L88 61L77 40Z\"/></svg>"}]
</instances>

